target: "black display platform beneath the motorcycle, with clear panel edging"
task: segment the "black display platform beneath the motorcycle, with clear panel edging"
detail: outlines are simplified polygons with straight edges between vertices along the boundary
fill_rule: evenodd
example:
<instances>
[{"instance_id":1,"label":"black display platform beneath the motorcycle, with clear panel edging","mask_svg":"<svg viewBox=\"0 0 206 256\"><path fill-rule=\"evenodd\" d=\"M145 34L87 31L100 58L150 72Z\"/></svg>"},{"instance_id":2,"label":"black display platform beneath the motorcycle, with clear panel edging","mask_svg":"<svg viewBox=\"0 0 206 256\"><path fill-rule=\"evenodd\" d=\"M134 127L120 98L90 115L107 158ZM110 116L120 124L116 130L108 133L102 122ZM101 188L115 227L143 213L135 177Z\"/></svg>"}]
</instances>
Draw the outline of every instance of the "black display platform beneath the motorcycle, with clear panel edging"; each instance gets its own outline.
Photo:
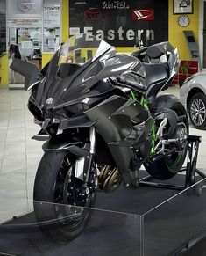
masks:
<instances>
[{"instance_id":1,"label":"black display platform beneath the motorcycle, with clear panel edging","mask_svg":"<svg viewBox=\"0 0 206 256\"><path fill-rule=\"evenodd\" d=\"M174 179L169 180L169 183L181 185L183 180L183 175L176 175ZM51 242L41 233L37 225L29 224L27 226L26 223L35 223L35 216L32 212L0 226L0 252L19 256L139 256L140 233L138 230L141 227L138 216L135 221L132 214L143 215L178 193L178 191L155 187L139 187L137 189L120 187L111 194L98 193L96 208L109 210L109 212L94 211L87 229L79 238L66 245ZM129 214L118 215L113 211ZM181 216L181 209L179 209L178 215ZM167 219L167 216L162 216L162 218ZM13 226L11 229L9 228L10 225L15 224L17 224L16 228ZM154 223L154 225L158 224ZM176 235L178 236L178 234ZM153 241L150 241L151 243ZM157 246L161 248L160 253L153 254L151 252L150 255L165 255L164 248L167 249L167 245L159 244ZM198 251L199 248L201 251ZM194 250L195 254L191 254L190 252L194 253ZM184 252L183 255L205 255L205 253L201 254L202 250L206 252L206 245L202 245L201 242L201 245L195 245L190 252Z\"/></svg>"}]
</instances>

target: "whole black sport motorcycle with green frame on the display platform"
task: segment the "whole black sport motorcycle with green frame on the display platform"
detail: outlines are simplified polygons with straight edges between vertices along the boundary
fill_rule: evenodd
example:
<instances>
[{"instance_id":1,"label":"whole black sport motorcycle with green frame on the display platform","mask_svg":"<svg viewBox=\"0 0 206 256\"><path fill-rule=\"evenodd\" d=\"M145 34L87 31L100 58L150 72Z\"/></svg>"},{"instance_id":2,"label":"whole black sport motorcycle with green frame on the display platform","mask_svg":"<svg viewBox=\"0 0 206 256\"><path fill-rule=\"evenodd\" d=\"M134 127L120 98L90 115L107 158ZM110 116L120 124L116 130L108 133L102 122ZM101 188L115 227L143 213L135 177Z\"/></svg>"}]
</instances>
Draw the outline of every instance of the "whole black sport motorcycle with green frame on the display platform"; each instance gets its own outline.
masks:
<instances>
[{"instance_id":1,"label":"whole black sport motorcycle with green frame on the display platform","mask_svg":"<svg viewBox=\"0 0 206 256\"><path fill-rule=\"evenodd\" d=\"M41 71L11 63L31 91L28 108L42 128L34 138L46 140L33 192L37 220L50 223L42 230L72 240L89 223L97 189L109 193L122 182L136 187L141 165L156 179L180 171L187 113L173 95L157 97L179 65L168 42L124 55L89 35L70 38Z\"/></svg>"}]
</instances>

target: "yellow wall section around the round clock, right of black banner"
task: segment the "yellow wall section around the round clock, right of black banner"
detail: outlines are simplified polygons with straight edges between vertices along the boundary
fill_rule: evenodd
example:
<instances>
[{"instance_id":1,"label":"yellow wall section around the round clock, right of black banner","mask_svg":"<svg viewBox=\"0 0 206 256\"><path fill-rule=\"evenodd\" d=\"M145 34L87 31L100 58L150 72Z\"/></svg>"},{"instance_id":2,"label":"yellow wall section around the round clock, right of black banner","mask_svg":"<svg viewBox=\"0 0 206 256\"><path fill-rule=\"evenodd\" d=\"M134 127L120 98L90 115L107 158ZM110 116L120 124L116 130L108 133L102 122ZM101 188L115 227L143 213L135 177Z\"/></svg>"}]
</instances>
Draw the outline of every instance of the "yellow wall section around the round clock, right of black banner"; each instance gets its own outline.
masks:
<instances>
[{"instance_id":1,"label":"yellow wall section around the round clock, right of black banner","mask_svg":"<svg viewBox=\"0 0 206 256\"><path fill-rule=\"evenodd\" d=\"M200 0L202 1L202 0ZM189 60L188 44L183 34L184 30L192 30L195 33L195 40L198 43L199 37L199 0L193 0L194 14L187 14L190 23L183 28L178 25L178 18L181 15L173 14L173 0L169 0L169 41L179 49L181 60Z\"/></svg>"}]
</instances>

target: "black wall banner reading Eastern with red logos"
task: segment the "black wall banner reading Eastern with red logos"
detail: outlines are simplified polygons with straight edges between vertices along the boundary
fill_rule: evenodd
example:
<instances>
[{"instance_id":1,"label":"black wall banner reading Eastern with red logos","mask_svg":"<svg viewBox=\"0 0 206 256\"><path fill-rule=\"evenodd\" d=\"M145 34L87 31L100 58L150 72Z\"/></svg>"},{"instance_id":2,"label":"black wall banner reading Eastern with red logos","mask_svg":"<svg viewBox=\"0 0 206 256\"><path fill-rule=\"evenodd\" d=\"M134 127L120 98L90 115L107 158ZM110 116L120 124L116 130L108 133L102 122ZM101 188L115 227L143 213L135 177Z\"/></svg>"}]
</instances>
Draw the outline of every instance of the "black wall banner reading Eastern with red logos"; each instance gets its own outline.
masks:
<instances>
[{"instance_id":1,"label":"black wall banner reading Eastern with red logos","mask_svg":"<svg viewBox=\"0 0 206 256\"><path fill-rule=\"evenodd\" d=\"M88 33L116 47L168 40L168 1L69 1L69 34Z\"/></svg>"}]
</instances>

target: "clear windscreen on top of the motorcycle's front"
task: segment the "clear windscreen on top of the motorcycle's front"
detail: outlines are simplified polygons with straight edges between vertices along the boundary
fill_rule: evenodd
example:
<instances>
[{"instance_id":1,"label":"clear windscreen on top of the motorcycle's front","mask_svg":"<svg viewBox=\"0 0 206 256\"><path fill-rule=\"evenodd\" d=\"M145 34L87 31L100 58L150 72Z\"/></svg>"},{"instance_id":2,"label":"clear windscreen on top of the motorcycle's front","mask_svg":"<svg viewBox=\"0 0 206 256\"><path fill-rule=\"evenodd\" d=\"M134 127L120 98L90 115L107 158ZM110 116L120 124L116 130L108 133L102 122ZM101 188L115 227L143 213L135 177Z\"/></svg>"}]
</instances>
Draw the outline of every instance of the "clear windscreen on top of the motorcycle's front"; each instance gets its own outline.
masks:
<instances>
[{"instance_id":1,"label":"clear windscreen on top of the motorcycle's front","mask_svg":"<svg viewBox=\"0 0 206 256\"><path fill-rule=\"evenodd\" d=\"M60 48L59 65L62 63L84 64L103 55L111 46L95 36L79 34L70 37Z\"/></svg>"}]
</instances>

